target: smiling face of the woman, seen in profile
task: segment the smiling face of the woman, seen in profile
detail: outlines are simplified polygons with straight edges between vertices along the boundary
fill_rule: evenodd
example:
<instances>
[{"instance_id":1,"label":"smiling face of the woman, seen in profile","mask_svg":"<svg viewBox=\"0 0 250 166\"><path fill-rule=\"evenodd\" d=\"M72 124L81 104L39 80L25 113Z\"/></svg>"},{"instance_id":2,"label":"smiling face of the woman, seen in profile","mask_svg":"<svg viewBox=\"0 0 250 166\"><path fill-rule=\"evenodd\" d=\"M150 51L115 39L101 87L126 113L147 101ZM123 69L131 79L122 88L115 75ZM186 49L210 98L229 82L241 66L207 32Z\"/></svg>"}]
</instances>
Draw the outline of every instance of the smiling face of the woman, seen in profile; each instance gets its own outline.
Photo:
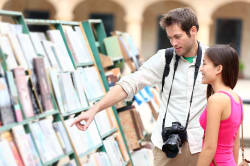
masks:
<instances>
[{"instance_id":1,"label":"smiling face of the woman, seen in profile","mask_svg":"<svg viewBox=\"0 0 250 166\"><path fill-rule=\"evenodd\" d=\"M216 75L218 74L217 66L213 64L206 54L200 71L202 72L202 84L211 84L216 79Z\"/></svg>"}]
</instances>

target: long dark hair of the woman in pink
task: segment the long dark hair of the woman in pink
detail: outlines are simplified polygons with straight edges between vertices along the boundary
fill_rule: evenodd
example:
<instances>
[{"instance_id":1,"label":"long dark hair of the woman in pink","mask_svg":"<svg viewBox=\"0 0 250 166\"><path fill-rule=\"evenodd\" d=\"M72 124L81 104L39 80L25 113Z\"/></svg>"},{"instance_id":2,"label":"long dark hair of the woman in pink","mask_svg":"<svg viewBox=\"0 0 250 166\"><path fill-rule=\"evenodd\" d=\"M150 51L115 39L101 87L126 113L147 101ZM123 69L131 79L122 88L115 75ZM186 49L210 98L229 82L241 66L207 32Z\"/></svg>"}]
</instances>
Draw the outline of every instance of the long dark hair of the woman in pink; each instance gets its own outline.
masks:
<instances>
[{"instance_id":1,"label":"long dark hair of the woman in pink","mask_svg":"<svg viewBox=\"0 0 250 166\"><path fill-rule=\"evenodd\" d=\"M236 50L229 45L215 45L206 50L207 57L214 66L222 65L222 81L234 88L239 75L239 58ZM211 85L207 86L207 98L214 93Z\"/></svg>"}]
</instances>

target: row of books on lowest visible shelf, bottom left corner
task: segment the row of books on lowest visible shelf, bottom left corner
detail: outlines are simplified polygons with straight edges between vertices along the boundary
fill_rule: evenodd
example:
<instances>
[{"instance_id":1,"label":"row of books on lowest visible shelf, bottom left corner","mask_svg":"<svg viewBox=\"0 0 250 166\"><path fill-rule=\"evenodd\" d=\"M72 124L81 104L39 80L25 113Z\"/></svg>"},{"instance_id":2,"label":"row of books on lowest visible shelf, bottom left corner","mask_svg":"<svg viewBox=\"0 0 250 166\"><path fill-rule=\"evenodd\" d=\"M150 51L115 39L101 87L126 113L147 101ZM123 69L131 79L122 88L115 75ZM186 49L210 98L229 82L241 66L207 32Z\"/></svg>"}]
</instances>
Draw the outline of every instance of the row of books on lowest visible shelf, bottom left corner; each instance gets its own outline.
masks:
<instances>
[{"instance_id":1,"label":"row of books on lowest visible shelf, bottom left corner","mask_svg":"<svg viewBox=\"0 0 250 166\"><path fill-rule=\"evenodd\" d=\"M38 166L41 165L40 158L43 163L46 163L65 154L66 150L62 145L67 145L68 139L61 137L62 134L65 136L65 133L62 133L65 132L64 130L61 130L60 127L56 128L57 125L60 126L60 123L52 124L51 119L44 119L29 124L30 133L26 133L25 128L21 125L13 127L11 131L1 133L0 148L4 151L0 152L0 164ZM59 144L59 138L62 140L62 144Z\"/></svg>"}]
</instances>

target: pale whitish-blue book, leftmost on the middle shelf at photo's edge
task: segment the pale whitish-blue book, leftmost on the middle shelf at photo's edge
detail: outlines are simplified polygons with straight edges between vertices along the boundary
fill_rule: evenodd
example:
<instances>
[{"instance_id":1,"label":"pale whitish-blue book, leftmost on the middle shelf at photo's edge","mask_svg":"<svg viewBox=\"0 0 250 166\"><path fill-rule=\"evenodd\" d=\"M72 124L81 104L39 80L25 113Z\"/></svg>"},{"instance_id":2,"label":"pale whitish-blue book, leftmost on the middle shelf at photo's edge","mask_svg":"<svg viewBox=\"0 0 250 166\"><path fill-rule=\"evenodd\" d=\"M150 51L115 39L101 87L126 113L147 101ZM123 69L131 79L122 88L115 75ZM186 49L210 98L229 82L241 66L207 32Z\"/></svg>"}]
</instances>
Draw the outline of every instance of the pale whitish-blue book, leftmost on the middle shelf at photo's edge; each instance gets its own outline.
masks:
<instances>
[{"instance_id":1,"label":"pale whitish-blue book, leftmost on the middle shelf at photo's edge","mask_svg":"<svg viewBox=\"0 0 250 166\"><path fill-rule=\"evenodd\" d=\"M3 125L15 122L10 92L5 77L0 77L0 114Z\"/></svg>"}]
</instances>

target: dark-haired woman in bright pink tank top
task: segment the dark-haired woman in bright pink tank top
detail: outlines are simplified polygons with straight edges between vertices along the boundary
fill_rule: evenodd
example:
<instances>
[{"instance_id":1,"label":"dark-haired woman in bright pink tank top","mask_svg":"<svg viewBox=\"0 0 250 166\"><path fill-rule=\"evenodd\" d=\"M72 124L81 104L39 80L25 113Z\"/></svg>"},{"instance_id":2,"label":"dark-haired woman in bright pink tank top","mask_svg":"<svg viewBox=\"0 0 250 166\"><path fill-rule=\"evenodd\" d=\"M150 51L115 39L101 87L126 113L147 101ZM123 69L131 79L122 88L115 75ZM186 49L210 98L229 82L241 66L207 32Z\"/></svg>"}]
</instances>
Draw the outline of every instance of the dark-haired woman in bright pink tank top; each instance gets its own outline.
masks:
<instances>
[{"instance_id":1,"label":"dark-haired woman in bright pink tank top","mask_svg":"<svg viewBox=\"0 0 250 166\"><path fill-rule=\"evenodd\" d=\"M207 107L200 117L204 129L198 166L236 166L239 153L241 99L233 91L239 60L228 45L208 48L201 66L202 83L208 84Z\"/></svg>"}]
</instances>

